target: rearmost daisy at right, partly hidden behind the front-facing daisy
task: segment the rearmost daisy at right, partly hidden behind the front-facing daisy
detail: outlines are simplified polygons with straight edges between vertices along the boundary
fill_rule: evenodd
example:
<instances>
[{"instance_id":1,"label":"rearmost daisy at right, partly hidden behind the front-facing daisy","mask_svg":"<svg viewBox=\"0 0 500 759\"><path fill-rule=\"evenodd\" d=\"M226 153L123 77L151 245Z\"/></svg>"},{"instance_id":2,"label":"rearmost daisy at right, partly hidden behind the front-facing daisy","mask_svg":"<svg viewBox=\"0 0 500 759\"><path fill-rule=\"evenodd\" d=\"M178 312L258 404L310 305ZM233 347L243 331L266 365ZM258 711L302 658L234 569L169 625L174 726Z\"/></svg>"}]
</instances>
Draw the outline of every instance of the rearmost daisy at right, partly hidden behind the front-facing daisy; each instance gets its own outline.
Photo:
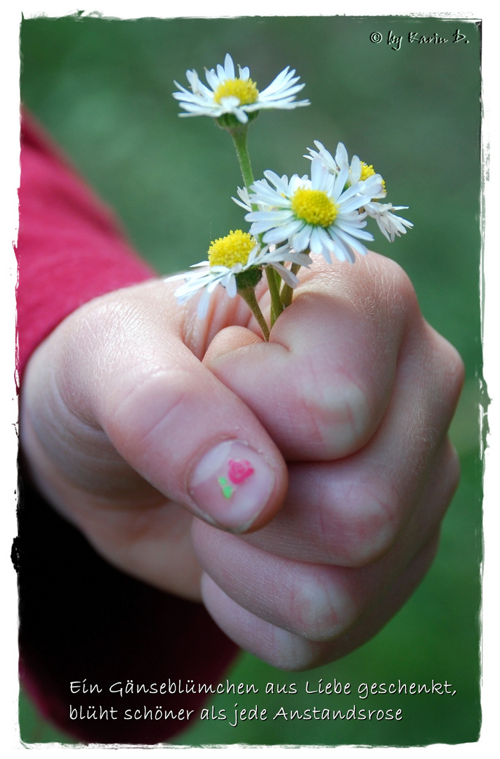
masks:
<instances>
[{"instance_id":1,"label":"rearmost daisy at right, partly hidden behind the front-facing daisy","mask_svg":"<svg viewBox=\"0 0 500 759\"><path fill-rule=\"evenodd\" d=\"M377 225L379 225L380 231L389 242L394 242L395 237L400 237L406 234L406 228L413 227L412 222L403 219L401 216L396 216L392 211L401 211L408 206L393 206L392 203L378 203L377 200L385 198L385 181L379 174L376 174L373 165L368 165L364 161L361 161L358 156L353 156L351 163L349 163L349 156L343 143L338 143L335 158L332 153L326 150L325 146L314 140L316 150L307 148L310 155L305 156L310 160L319 159L325 168L328 168L332 174L338 174L342 169L348 169L347 184L349 186L357 184L357 182L365 181L364 194L371 194L371 200L365 203L363 210L366 211L366 215L375 219ZM376 184L381 184L382 189L377 193L371 193L373 187ZM375 202L373 202L375 201Z\"/></svg>"}]
</instances>

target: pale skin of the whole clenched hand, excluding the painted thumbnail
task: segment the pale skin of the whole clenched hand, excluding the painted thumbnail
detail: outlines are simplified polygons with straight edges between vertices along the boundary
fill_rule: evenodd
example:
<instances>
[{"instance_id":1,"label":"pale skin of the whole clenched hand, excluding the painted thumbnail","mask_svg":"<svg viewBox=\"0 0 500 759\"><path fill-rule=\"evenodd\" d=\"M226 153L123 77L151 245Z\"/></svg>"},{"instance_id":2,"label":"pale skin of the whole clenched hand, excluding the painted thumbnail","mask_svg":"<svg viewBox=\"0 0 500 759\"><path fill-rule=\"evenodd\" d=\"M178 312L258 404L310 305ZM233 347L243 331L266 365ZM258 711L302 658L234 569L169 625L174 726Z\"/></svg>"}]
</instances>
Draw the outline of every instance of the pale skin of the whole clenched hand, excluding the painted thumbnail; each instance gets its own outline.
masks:
<instances>
[{"instance_id":1,"label":"pale skin of the whole clenched hand, excluding the painted thumbnail","mask_svg":"<svg viewBox=\"0 0 500 759\"><path fill-rule=\"evenodd\" d=\"M178 282L91 301L31 357L20 424L39 489L105 559L291 670L363 644L426 574L464 376L391 260L300 278L267 344L220 287L203 321ZM231 440L274 475L250 527L214 524L189 487Z\"/></svg>"}]
</instances>

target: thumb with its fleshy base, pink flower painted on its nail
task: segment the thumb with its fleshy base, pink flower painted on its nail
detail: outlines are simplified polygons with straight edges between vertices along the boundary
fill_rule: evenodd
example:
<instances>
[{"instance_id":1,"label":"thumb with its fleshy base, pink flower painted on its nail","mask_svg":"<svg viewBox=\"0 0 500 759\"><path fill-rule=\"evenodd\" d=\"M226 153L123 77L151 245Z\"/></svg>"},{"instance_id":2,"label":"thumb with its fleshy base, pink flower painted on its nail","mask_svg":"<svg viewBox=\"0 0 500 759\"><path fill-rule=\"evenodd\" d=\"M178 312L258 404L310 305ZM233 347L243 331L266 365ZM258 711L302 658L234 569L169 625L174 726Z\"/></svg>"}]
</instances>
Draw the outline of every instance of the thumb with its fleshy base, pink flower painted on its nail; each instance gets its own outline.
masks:
<instances>
[{"instance_id":1,"label":"thumb with its fleshy base, pink flower painted on its nail","mask_svg":"<svg viewBox=\"0 0 500 759\"><path fill-rule=\"evenodd\" d=\"M184 345L184 329L165 283L149 282L82 307L33 355L30 463L75 521L79 508L140 508L158 493L233 532L262 527L280 508L280 452Z\"/></svg>"}]
</instances>

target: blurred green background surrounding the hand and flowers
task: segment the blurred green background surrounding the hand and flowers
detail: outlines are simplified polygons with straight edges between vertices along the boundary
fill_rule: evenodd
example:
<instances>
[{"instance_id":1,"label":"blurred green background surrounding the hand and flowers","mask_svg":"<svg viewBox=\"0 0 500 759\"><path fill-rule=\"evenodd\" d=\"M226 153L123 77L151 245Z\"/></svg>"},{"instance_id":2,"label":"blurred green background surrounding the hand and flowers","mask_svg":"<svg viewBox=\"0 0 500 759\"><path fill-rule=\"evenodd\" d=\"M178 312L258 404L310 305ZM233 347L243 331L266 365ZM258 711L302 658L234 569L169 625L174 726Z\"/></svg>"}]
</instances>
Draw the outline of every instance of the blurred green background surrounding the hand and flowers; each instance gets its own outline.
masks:
<instances>
[{"instance_id":1,"label":"blurred green background surrounding the hand and flowers","mask_svg":"<svg viewBox=\"0 0 500 759\"><path fill-rule=\"evenodd\" d=\"M454 32L467 38L454 43ZM370 41L379 32L380 43ZM388 33L401 36L388 44ZM409 43L408 33L446 43ZM229 677L260 687L269 719L200 722L178 744L428 745L473 742L480 729L480 28L416 17L24 19L21 96L81 174L115 208L137 250L159 272L202 260L212 239L241 226L231 201L241 176L231 140L209 118L178 118L173 80L213 68L226 52L249 65L262 90L286 65L306 83L309 108L263 112L250 130L253 170L306 173L307 146L338 140L385 178L388 200L414 229L376 249L410 275L423 313L458 348L467 382L451 434L463 477L426 580L379 635L344 659L288 674L242 654ZM373 230L375 231L375 230ZM313 696L307 680L453 684L451 696ZM267 682L298 685L265 695ZM221 696L253 707L256 696ZM272 720L287 708L401 707L399 722ZM232 720L231 720L232 721ZM68 741L23 694L25 742Z\"/></svg>"}]
</instances>

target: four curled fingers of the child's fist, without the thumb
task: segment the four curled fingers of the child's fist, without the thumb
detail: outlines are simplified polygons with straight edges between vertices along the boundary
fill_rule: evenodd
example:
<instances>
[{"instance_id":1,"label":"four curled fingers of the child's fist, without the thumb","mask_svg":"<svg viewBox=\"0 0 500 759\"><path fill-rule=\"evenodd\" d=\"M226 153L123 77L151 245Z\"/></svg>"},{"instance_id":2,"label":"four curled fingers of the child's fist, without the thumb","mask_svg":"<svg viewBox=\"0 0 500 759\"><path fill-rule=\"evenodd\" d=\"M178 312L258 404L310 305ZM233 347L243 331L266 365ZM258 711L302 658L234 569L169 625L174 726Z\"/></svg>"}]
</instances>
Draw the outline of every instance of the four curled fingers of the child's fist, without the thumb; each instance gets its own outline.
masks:
<instances>
[{"instance_id":1,"label":"four curled fingers of the child's fist, without the thumb","mask_svg":"<svg viewBox=\"0 0 500 759\"><path fill-rule=\"evenodd\" d=\"M304 279L272 345L232 328L204 362L291 462L285 506L249 536L193 526L215 621L284 669L341 657L395 614L459 476L446 432L462 362L404 272L370 254Z\"/></svg>"}]
</instances>

